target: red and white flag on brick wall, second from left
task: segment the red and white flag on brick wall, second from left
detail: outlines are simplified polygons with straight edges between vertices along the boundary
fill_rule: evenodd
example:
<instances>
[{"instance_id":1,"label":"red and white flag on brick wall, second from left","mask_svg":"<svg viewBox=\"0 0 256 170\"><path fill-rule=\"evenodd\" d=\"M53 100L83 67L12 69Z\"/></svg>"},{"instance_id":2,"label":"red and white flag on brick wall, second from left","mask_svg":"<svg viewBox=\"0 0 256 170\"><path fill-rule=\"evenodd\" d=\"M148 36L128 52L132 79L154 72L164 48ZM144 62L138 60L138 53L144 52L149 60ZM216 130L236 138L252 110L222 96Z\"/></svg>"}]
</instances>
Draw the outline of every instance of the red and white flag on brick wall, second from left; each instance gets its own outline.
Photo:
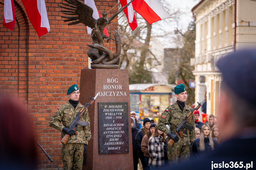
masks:
<instances>
[{"instance_id":1,"label":"red and white flag on brick wall, second from left","mask_svg":"<svg viewBox=\"0 0 256 170\"><path fill-rule=\"evenodd\" d=\"M21 0L39 38L50 31L44 0Z\"/></svg>"}]
</instances>

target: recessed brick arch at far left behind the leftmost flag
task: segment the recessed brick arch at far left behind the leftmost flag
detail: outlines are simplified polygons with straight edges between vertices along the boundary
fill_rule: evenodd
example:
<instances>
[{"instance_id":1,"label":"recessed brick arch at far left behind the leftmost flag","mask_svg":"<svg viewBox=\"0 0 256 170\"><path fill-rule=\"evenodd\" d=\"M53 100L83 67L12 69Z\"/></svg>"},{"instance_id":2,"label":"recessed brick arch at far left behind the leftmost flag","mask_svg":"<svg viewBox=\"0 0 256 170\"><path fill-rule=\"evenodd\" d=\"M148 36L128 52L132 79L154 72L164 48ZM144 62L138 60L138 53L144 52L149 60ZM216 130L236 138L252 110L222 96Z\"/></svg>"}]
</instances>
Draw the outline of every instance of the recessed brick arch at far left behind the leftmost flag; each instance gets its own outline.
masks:
<instances>
[{"instance_id":1,"label":"recessed brick arch at far left behind the leftmost flag","mask_svg":"<svg viewBox=\"0 0 256 170\"><path fill-rule=\"evenodd\" d=\"M0 7L4 7L0 0ZM14 31L0 25L0 83L1 92L9 93L26 100L27 85L27 21L23 9L14 1L15 28ZM4 12L0 13L0 23L3 23Z\"/></svg>"}]
</instances>

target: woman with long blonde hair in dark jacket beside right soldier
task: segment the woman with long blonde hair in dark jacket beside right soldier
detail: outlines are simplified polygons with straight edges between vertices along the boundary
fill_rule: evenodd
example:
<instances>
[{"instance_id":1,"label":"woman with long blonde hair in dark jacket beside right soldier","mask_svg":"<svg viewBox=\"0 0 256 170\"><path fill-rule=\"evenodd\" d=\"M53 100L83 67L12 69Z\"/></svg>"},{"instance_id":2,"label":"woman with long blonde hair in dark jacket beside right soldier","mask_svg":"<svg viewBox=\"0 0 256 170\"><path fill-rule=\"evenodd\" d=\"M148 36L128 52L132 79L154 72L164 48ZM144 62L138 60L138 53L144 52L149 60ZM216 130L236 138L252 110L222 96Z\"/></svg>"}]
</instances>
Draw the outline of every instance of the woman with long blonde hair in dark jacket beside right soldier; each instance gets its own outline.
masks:
<instances>
[{"instance_id":1,"label":"woman with long blonde hair in dark jacket beside right soldier","mask_svg":"<svg viewBox=\"0 0 256 170\"><path fill-rule=\"evenodd\" d=\"M200 131L200 137L194 140L192 152L195 158L211 153L219 146L217 141L212 138L210 126L203 124Z\"/></svg>"}]
</instances>

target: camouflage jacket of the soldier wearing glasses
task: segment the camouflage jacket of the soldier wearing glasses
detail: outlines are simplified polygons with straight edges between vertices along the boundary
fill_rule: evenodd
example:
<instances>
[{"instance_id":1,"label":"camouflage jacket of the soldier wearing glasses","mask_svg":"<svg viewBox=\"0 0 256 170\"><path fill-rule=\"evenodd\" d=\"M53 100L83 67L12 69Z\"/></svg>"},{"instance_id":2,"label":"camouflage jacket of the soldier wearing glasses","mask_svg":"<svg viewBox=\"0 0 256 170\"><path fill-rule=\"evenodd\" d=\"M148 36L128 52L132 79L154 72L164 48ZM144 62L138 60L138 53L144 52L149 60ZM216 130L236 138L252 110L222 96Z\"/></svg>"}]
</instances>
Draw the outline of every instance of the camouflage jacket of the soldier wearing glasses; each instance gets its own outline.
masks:
<instances>
[{"instance_id":1,"label":"camouflage jacket of the soldier wearing glasses","mask_svg":"<svg viewBox=\"0 0 256 170\"><path fill-rule=\"evenodd\" d=\"M81 103L77 104L76 109L74 106L67 101L64 105L62 105L53 115L49 122L49 126L55 129L58 129L62 132L63 127L69 127L72 121L77 116L77 113L82 109L83 105ZM88 121L89 126L80 126L78 125L79 129L77 130L77 135L71 135L67 143L83 143L88 144L88 140L91 138L91 131L90 131L90 118L88 114L88 110L86 109L83 116L80 118L80 121L86 122ZM61 124L62 122L62 124ZM61 139L66 135L66 133L61 133Z\"/></svg>"}]
</instances>

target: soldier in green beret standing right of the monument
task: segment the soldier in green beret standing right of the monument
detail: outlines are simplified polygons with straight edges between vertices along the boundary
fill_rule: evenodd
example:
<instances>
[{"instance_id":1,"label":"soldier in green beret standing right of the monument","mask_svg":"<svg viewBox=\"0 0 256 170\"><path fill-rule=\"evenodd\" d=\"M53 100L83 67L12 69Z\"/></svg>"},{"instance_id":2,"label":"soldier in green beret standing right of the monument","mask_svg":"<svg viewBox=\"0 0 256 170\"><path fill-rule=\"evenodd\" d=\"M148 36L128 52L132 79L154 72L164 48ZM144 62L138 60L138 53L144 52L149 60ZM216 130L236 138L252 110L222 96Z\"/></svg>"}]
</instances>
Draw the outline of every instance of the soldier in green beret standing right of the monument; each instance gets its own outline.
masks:
<instances>
[{"instance_id":1,"label":"soldier in green beret standing right of the monument","mask_svg":"<svg viewBox=\"0 0 256 170\"><path fill-rule=\"evenodd\" d=\"M187 125L190 125L190 129L184 129L182 131L183 137L176 135L176 128L179 127L183 119L187 114L192 111L190 106L185 104L187 100L186 88L183 84L177 85L174 88L177 101L166 108L158 120L158 130L168 134L167 142L172 139L174 144L172 147L168 146L168 160L169 164L177 164L187 161L190 156L190 148L193 145L193 139L195 137L195 118L192 116ZM170 130L166 127L167 122L170 123Z\"/></svg>"}]
</instances>

